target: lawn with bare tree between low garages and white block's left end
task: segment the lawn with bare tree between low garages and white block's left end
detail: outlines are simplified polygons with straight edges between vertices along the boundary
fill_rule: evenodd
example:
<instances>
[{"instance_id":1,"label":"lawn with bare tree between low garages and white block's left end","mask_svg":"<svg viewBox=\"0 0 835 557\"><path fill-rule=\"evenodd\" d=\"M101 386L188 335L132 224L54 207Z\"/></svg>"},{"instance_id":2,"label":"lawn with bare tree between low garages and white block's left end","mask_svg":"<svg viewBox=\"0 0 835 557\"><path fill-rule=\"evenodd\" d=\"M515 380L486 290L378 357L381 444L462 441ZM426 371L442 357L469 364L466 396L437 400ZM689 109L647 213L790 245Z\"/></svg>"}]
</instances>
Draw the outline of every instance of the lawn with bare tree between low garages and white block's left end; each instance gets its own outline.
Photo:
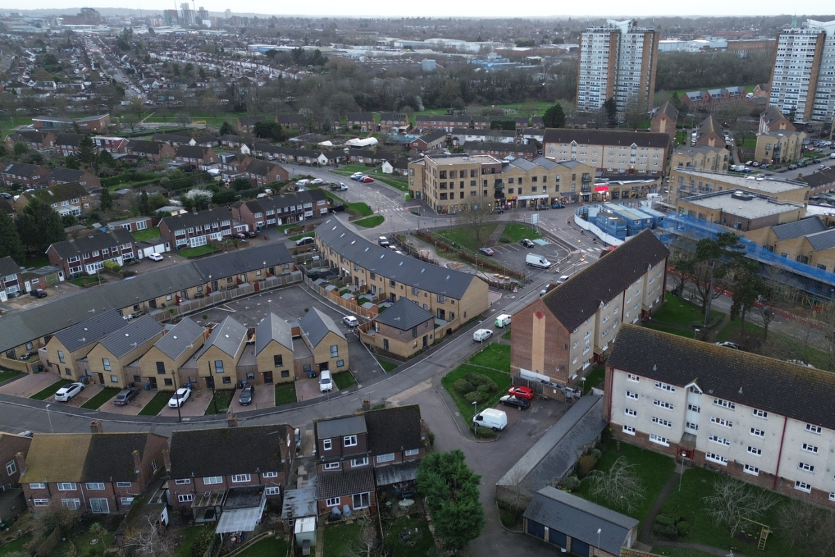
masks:
<instances>
[{"instance_id":1,"label":"lawn with bare tree between low garages and white block's left end","mask_svg":"<svg viewBox=\"0 0 835 557\"><path fill-rule=\"evenodd\" d=\"M670 474L676 468L675 461L664 454L653 453L645 448L638 448L623 442L620 443L620 452L617 452L617 443L614 439L610 439L601 450L603 451L603 456L600 457L595 467L597 470L609 470L612 464L615 463L615 460L620 457L625 457L627 463L635 464L635 472L638 473L641 483L644 485L645 497L638 503L635 512L626 513L624 509L615 510L623 514L628 514L634 519L643 521L646 518L646 514L650 512L652 504L655 503L655 499L658 498L658 494L660 494L667 479L670 478ZM597 504L610 507L605 500L594 498L589 494L588 481L584 480L575 494L583 499L589 499Z\"/></svg>"}]
</instances>

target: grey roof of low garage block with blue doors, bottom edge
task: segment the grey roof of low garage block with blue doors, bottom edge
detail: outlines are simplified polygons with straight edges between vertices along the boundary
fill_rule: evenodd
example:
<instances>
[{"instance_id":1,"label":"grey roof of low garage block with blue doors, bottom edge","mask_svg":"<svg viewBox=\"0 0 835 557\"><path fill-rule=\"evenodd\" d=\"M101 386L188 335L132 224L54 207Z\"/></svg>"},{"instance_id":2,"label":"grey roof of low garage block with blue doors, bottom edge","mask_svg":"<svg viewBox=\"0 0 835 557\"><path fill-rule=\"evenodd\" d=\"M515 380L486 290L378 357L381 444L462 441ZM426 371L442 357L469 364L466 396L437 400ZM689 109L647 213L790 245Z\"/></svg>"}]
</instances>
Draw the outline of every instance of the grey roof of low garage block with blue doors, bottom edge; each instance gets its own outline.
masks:
<instances>
[{"instance_id":1,"label":"grey roof of low garage block with blue doors, bottom edge","mask_svg":"<svg viewBox=\"0 0 835 557\"><path fill-rule=\"evenodd\" d=\"M600 549L613 555L620 554L630 530L638 525L638 520L625 514L552 487L540 489L534 494L524 517L592 547L597 547L600 539Z\"/></svg>"}]
</instances>

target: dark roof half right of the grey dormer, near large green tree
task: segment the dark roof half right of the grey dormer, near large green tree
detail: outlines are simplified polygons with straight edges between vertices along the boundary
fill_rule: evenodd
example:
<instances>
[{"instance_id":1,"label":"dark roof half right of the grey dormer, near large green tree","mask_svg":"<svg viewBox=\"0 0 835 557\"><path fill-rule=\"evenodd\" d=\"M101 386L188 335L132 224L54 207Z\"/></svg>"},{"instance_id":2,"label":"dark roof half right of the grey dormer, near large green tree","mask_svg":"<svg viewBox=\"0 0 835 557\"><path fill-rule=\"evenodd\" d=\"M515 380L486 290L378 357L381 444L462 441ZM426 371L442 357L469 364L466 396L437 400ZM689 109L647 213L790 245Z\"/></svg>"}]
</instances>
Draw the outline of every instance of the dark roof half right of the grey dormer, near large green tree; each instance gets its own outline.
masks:
<instances>
[{"instance_id":1,"label":"dark roof half right of the grey dormer, near large green tree","mask_svg":"<svg viewBox=\"0 0 835 557\"><path fill-rule=\"evenodd\" d=\"M368 431L368 450L372 454L420 448L421 418L417 404L371 410L363 417Z\"/></svg>"}]
</instances>

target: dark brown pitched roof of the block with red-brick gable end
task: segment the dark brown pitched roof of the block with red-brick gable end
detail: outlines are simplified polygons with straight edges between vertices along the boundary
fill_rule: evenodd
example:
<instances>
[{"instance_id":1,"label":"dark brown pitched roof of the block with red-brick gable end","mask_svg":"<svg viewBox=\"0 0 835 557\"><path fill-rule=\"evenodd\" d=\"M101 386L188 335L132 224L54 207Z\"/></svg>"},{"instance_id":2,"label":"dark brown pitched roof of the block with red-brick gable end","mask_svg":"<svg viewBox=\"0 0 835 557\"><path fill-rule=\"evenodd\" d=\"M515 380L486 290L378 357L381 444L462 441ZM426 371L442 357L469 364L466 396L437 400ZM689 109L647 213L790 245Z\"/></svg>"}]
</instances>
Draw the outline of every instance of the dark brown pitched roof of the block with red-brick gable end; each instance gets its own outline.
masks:
<instances>
[{"instance_id":1,"label":"dark brown pitched roof of the block with red-brick gable end","mask_svg":"<svg viewBox=\"0 0 835 557\"><path fill-rule=\"evenodd\" d=\"M594 316L601 302L610 301L643 276L647 266L658 265L670 255L650 230L644 230L614 251L605 253L600 260L542 298L545 306L569 331Z\"/></svg>"}]
</instances>

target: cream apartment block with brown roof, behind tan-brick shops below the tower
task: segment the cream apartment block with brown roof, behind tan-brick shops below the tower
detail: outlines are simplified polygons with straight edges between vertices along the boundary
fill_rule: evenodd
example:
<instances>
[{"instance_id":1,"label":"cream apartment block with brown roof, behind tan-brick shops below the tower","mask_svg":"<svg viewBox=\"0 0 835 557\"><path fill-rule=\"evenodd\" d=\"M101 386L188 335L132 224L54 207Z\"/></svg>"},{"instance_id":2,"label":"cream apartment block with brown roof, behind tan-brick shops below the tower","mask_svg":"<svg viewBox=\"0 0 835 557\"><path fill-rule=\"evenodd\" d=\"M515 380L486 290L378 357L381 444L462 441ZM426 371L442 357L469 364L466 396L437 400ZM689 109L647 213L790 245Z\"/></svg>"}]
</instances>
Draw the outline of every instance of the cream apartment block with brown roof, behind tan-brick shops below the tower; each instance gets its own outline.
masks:
<instances>
[{"instance_id":1,"label":"cream apartment block with brown roof, behind tan-brick shops below the tower","mask_svg":"<svg viewBox=\"0 0 835 557\"><path fill-rule=\"evenodd\" d=\"M614 129L545 129L542 146L549 159L625 175L663 175L669 149L668 134Z\"/></svg>"}]
</instances>

